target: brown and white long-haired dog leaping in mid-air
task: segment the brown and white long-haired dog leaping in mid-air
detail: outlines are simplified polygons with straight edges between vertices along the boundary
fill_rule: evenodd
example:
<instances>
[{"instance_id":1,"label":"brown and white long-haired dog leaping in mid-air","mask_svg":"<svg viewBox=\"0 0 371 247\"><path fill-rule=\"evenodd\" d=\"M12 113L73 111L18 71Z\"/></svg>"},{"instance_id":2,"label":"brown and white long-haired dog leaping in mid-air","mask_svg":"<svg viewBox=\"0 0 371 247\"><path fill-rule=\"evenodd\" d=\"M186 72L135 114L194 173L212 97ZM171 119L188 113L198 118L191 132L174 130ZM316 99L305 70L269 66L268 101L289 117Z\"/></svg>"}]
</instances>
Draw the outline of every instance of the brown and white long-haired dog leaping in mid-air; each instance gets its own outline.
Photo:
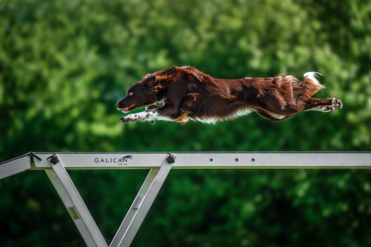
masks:
<instances>
[{"instance_id":1,"label":"brown and white long-haired dog leaping in mid-air","mask_svg":"<svg viewBox=\"0 0 371 247\"><path fill-rule=\"evenodd\" d=\"M116 108L123 112L145 106L145 111L124 115L123 122L189 119L206 123L228 120L255 111L271 121L282 121L301 111L342 108L336 98L315 99L324 88L316 72L303 81L291 75L269 78L216 79L194 67L172 67L147 74L127 90Z\"/></svg>"}]
</instances>

